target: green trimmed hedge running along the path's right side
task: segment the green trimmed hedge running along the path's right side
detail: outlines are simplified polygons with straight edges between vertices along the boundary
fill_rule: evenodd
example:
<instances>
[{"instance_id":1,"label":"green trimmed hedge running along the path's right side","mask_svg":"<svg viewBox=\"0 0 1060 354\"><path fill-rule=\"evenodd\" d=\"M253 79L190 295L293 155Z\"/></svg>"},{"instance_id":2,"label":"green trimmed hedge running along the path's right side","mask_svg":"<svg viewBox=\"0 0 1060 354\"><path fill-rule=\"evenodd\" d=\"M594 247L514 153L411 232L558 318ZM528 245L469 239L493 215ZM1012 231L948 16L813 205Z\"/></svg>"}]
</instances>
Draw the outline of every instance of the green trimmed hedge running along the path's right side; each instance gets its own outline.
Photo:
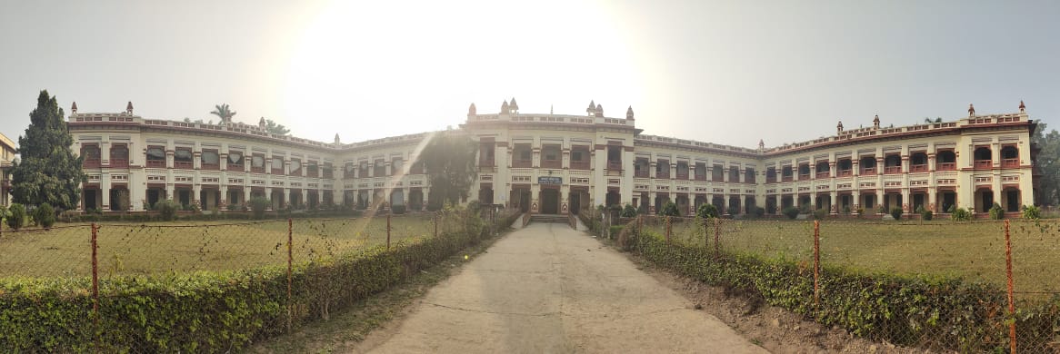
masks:
<instances>
[{"instance_id":1,"label":"green trimmed hedge running along the path's right side","mask_svg":"<svg viewBox=\"0 0 1060 354\"><path fill-rule=\"evenodd\" d=\"M865 275L840 267L820 273L820 304L814 303L813 264L722 253L667 243L653 232L631 233L634 251L655 265L728 291L762 299L850 333L901 346L959 352L1006 351L1005 293L953 278ZM1027 308L1029 307L1029 308ZM1021 306L1017 318L1021 351L1048 351L1060 328L1060 297Z\"/></svg>"}]
</instances>

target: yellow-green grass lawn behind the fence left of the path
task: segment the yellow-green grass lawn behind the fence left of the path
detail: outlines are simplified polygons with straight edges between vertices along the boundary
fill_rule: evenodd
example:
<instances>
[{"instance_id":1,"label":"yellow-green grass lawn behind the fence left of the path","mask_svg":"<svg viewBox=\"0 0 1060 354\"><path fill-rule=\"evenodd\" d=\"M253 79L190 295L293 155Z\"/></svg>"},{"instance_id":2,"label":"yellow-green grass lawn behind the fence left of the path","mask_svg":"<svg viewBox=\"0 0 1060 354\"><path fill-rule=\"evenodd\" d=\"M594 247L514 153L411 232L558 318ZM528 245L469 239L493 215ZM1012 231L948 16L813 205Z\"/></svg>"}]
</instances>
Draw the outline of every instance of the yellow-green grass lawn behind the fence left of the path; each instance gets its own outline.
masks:
<instances>
[{"instance_id":1,"label":"yellow-green grass lawn behind the fence left of the path","mask_svg":"<svg viewBox=\"0 0 1060 354\"><path fill-rule=\"evenodd\" d=\"M349 219L295 219L293 259L319 258L385 245L385 216ZM439 232L448 228L443 218ZM101 224L100 276L242 269L287 262L287 220ZM434 235L431 216L395 216L391 243ZM85 277L91 275L89 225L57 225L45 230L4 231L0 235L0 278Z\"/></svg>"}]
</instances>

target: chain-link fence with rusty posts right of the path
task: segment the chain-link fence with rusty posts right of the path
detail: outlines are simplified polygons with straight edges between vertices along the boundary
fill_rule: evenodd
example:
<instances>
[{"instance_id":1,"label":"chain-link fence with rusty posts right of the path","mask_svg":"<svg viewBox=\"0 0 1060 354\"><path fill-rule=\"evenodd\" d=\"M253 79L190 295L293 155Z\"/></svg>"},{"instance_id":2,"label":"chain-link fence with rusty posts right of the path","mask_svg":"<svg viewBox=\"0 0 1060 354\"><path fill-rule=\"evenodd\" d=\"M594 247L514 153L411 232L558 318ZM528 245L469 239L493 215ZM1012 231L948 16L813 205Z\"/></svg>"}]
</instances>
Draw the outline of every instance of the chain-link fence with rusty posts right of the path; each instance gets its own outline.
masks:
<instances>
[{"instance_id":1,"label":"chain-link fence with rusty posts right of the path","mask_svg":"<svg viewBox=\"0 0 1060 354\"><path fill-rule=\"evenodd\" d=\"M854 334L943 352L1060 352L1060 220L641 215L614 224L648 240L638 251L661 241L667 250L657 254L673 268L710 268L718 275L703 278L755 287Z\"/></svg>"}]
</instances>

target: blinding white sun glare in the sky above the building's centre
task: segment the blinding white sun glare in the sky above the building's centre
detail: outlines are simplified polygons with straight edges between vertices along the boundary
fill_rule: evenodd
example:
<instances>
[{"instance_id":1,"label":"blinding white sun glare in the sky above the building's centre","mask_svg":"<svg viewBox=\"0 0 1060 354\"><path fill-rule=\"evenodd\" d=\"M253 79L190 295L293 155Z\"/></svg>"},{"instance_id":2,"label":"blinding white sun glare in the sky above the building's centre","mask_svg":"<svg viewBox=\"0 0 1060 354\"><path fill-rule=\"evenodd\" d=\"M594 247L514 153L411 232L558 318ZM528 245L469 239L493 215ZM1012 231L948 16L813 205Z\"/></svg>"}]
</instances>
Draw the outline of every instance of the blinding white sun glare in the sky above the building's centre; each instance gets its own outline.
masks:
<instances>
[{"instance_id":1,"label":"blinding white sun glare in the sky above the building's centre","mask_svg":"<svg viewBox=\"0 0 1060 354\"><path fill-rule=\"evenodd\" d=\"M352 142L441 129L458 124L470 102L499 107L511 95L538 112L554 104L558 113L577 113L604 96L635 104L634 60L601 6L331 3L295 49L284 113L307 138L330 141L339 131ZM585 84L555 84L571 77ZM344 125L369 119L387 123L371 132Z\"/></svg>"}]
</instances>

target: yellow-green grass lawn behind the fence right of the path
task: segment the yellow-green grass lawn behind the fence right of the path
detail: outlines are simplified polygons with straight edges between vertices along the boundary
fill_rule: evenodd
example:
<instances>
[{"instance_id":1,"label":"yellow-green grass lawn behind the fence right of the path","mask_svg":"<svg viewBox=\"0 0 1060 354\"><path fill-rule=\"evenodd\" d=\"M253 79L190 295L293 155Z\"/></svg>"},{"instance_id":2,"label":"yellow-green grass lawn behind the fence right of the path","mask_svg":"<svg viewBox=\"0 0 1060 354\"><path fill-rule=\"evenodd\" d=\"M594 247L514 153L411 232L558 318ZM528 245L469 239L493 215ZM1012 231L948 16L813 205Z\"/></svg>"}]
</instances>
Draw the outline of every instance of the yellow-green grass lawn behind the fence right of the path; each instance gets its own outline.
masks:
<instances>
[{"instance_id":1,"label":"yellow-green grass lawn behind the fence right of the path","mask_svg":"<svg viewBox=\"0 0 1060 354\"><path fill-rule=\"evenodd\" d=\"M646 227L665 232L660 222ZM1009 230L1015 291L1060 291L1060 220L1011 220ZM672 240L713 248L713 232L711 227L704 240L703 225L686 219L673 224ZM813 222L725 220L719 238L723 251L813 262ZM956 276L1004 288L1004 224L823 220L820 262L872 273Z\"/></svg>"}]
</instances>

